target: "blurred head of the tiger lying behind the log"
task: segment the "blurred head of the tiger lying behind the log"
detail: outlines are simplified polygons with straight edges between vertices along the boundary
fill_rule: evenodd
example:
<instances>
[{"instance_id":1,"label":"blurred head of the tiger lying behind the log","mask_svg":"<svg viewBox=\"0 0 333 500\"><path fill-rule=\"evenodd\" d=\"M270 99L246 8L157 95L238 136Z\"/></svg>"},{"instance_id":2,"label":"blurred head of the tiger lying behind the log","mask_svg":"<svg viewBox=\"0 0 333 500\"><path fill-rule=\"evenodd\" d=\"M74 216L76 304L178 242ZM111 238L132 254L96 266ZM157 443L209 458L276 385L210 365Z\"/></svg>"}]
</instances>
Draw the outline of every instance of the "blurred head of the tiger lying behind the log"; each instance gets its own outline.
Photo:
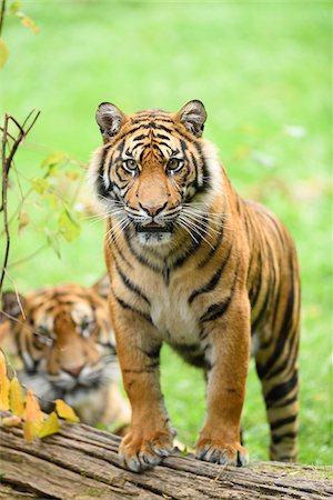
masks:
<instances>
[{"instance_id":1,"label":"blurred head of the tiger lying behind the log","mask_svg":"<svg viewBox=\"0 0 333 500\"><path fill-rule=\"evenodd\" d=\"M118 378L108 302L95 287L62 284L2 297L2 320L23 362L22 381L48 400L87 393Z\"/></svg>"}]
</instances>

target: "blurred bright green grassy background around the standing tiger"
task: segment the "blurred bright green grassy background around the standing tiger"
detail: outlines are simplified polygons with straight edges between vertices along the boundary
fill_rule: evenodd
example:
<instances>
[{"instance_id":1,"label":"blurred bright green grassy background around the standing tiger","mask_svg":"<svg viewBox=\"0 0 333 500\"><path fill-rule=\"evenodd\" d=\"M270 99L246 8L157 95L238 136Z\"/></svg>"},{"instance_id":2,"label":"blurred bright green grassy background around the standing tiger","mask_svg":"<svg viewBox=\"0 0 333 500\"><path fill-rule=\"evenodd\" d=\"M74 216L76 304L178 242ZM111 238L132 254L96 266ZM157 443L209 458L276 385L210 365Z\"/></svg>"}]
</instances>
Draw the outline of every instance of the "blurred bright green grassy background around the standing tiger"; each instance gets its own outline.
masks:
<instances>
[{"instance_id":1,"label":"blurred bright green grassy background around the standing tiger","mask_svg":"<svg viewBox=\"0 0 333 500\"><path fill-rule=\"evenodd\" d=\"M300 461L330 463L329 2L24 1L22 10L40 33L8 17L1 111L18 119L32 108L42 111L17 159L27 177L40 174L54 150L88 161L100 144L94 111L101 101L124 111L205 103L205 137L219 147L233 183L273 209L296 241L303 281ZM43 207L32 198L27 210L38 224ZM102 234L103 223L87 223L78 240L62 244L60 260L48 249L11 267L10 277L21 291L61 281L89 284L104 269ZM13 236L11 262L42 242L30 227ZM173 424L193 444L204 414L202 376L170 350L162 357ZM253 367L243 424L252 459L266 459Z\"/></svg>"}]
</instances>

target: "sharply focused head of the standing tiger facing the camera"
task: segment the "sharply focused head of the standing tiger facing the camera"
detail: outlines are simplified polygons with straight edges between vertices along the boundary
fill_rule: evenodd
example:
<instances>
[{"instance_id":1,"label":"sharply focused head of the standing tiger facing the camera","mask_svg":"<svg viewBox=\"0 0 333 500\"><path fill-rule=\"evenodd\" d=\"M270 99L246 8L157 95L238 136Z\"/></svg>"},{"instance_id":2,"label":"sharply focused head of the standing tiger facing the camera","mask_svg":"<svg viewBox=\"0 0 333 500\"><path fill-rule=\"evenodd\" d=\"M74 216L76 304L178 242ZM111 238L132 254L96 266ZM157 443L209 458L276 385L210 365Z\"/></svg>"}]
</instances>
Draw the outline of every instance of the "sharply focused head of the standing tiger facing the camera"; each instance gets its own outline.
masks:
<instances>
[{"instance_id":1,"label":"sharply focused head of the standing tiger facing the camera","mask_svg":"<svg viewBox=\"0 0 333 500\"><path fill-rule=\"evenodd\" d=\"M94 153L90 174L119 230L130 227L143 244L169 243L179 228L191 230L193 213L221 184L215 151L201 139L205 119L198 100L178 113L125 116L109 102L99 106L104 146Z\"/></svg>"}]
</instances>

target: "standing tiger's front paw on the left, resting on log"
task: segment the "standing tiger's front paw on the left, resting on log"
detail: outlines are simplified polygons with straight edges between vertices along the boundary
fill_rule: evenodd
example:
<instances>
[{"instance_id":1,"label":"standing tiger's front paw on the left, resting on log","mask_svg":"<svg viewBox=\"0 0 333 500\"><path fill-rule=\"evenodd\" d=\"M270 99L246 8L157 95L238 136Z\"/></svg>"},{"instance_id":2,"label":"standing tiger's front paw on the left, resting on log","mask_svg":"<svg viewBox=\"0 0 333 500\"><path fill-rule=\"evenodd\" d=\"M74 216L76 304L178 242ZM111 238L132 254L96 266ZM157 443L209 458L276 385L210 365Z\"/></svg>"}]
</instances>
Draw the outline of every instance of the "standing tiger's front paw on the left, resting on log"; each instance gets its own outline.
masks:
<instances>
[{"instance_id":1,"label":"standing tiger's front paw on the left, resting on log","mask_svg":"<svg viewBox=\"0 0 333 500\"><path fill-rule=\"evenodd\" d=\"M119 447L120 464L132 472L158 466L173 451L172 432L155 431L149 436L130 430Z\"/></svg>"}]
</instances>

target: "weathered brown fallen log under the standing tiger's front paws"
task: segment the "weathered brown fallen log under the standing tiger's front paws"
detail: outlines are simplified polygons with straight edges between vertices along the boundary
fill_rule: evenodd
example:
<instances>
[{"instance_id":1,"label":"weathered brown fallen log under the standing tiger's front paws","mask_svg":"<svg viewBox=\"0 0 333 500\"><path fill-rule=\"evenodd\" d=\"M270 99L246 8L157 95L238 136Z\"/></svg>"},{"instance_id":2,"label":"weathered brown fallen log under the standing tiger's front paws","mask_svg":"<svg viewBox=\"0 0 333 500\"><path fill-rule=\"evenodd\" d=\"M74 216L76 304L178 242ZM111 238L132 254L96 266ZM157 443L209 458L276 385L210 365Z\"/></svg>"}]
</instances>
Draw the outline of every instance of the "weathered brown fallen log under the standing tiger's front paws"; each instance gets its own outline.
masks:
<instances>
[{"instance_id":1,"label":"weathered brown fallen log under the standing tiger's front paws","mask_svg":"<svg viewBox=\"0 0 333 500\"><path fill-rule=\"evenodd\" d=\"M27 442L0 427L0 499L271 500L333 497L333 468L253 462L224 467L174 456L143 474L121 469L117 436L83 424Z\"/></svg>"}]
</instances>

